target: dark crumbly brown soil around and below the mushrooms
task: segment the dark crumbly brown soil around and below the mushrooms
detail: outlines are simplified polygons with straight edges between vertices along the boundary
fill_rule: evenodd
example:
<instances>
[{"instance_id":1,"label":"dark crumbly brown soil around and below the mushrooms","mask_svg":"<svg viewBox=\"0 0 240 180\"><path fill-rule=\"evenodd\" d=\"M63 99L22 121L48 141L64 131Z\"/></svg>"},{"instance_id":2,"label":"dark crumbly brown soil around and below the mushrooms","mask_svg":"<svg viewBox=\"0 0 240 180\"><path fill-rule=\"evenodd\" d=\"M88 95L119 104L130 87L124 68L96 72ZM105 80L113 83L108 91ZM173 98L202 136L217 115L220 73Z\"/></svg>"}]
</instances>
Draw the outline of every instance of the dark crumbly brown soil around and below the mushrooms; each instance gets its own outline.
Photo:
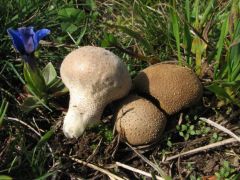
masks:
<instances>
[{"instance_id":1,"label":"dark crumbly brown soil around and below the mushrooms","mask_svg":"<svg viewBox=\"0 0 240 180\"><path fill-rule=\"evenodd\" d=\"M172 161L165 161L166 157L210 144L214 132L221 135L223 139L229 138L225 133L212 128L212 131L206 135L192 136L185 141L179 136L176 125L180 122L180 117L186 114L197 114L199 117L210 118L224 125L237 135L240 135L240 111L237 108L234 109L234 107L230 110L229 107L220 107L218 109L212 108L217 107L217 105L214 104L216 101L211 99L211 95L205 95L204 99L203 105L191 107L191 109L184 110L179 114L168 117L166 130L159 142L151 146L135 147L139 153L144 155L152 163L156 162L161 169L173 179L190 179L191 177L201 177L202 179L206 179L207 177L216 178L214 174L220 170L224 161L231 163L231 167L236 169L235 173L240 173L239 143L220 146L197 154L180 157ZM65 100L68 102L67 99ZM159 175L123 140L119 140L117 134L109 141L105 139L101 130L98 128L91 128L78 139L67 139L63 135L61 129L64 117L63 109L66 108L67 105L65 104L62 109L59 109L59 111L54 114L36 111L32 114L28 114L29 121L26 119L26 122L31 122L32 117L38 117L39 120L36 119L36 121L38 120L37 124L40 129L49 129L52 127L55 130L54 136L48 141L52 149L50 154L54 156L54 162L53 159L49 158L46 162L46 167L53 171L57 170L56 179L109 179L104 173L89 167L89 164L94 164L119 177L126 177L131 180L143 179L143 176L138 173L116 166L116 162L121 162L148 173ZM102 122L103 127L107 126L111 130L114 129L113 112L114 104L106 108ZM182 123L186 123L184 119ZM193 122L193 124L194 123L197 123L197 121ZM28 148L31 149L29 146L33 146L32 148L34 148L38 142L38 137L22 125L11 123L9 125L6 124L5 127L6 129L12 128L12 131L16 134L25 133L28 138L24 139L21 138L21 136L7 136L0 131L0 169L5 167L6 163L9 163L15 156L21 156L21 149L18 149L18 147L11 148L9 146L25 143L28 144ZM15 137L18 137L18 139ZM169 138L172 143L171 147L168 145ZM46 151L49 151L49 149ZM76 162L72 160L71 157L82 160L86 164ZM27 173L27 170L25 173Z\"/></svg>"}]
</instances>

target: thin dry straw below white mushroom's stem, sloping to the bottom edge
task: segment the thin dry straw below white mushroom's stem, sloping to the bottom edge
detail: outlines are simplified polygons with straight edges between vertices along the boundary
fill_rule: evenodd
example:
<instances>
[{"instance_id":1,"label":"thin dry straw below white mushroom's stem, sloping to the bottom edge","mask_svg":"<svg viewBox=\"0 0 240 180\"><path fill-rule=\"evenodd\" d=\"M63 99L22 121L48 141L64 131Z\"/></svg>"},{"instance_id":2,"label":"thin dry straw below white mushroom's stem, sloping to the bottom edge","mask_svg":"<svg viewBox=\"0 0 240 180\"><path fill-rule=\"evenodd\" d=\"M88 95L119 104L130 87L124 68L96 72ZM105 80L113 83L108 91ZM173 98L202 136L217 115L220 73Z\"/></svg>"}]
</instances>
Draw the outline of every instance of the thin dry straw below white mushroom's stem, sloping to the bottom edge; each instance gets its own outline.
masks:
<instances>
[{"instance_id":1,"label":"thin dry straw below white mushroom's stem, sloping to the bottom edge","mask_svg":"<svg viewBox=\"0 0 240 180\"><path fill-rule=\"evenodd\" d=\"M121 178L121 177L119 177L119 176L111 173L110 171L108 171L108 170L106 170L106 169L103 169L103 168L100 168L100 167L98 167L98 166L96 166L96 165L94 165L94 164L87 163L87 162L85 162L85 161L83 161L83 160L76 159L76 158L74 158L74 157L72 157L72 156L68 156L68 157L69 157L71 160L73 160L73 161L75 161L75 162L77 162L77 163L79 163L79 164L83 164L83 165L88 166L88 167L90 167L90 168L92 168L92 169L95 169L95 170L97 170L97 171L100 171L100 172L103 173L103 174L108 175L108 177L111 178L111 179L124 180L123 178Z\"/></svg>"}]
</instances>

